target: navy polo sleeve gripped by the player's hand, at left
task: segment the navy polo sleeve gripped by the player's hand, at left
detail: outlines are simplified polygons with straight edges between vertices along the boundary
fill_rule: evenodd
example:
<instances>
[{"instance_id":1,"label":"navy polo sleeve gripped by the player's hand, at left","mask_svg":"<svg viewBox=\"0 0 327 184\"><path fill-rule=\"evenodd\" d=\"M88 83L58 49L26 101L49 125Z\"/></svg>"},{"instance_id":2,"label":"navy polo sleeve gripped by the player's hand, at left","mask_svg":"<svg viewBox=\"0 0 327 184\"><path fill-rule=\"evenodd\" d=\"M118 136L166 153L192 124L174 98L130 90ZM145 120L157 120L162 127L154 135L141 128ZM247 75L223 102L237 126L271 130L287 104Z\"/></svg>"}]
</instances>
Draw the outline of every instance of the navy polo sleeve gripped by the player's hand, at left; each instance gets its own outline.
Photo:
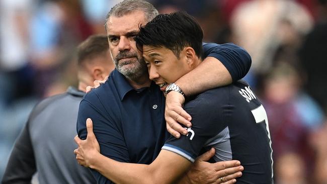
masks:
<instances>
[{"instance_id":1,"label":"navy polo sleeve gripped by the player's hand, at left","mask_svg":"<svg viewBox=\"0 0 327 184\"><path fill-rule=\"evenodd\" d=\"M120 162L129 162L127 146L119 126L107 113L94 91L90 91L79 104L77 134L80 139L87 137L88 118L93 121L93 131L99 142L101 154ZM92 170L92 173L97 183L113 183L96 170Z\"/></svg>"}]
</instances>

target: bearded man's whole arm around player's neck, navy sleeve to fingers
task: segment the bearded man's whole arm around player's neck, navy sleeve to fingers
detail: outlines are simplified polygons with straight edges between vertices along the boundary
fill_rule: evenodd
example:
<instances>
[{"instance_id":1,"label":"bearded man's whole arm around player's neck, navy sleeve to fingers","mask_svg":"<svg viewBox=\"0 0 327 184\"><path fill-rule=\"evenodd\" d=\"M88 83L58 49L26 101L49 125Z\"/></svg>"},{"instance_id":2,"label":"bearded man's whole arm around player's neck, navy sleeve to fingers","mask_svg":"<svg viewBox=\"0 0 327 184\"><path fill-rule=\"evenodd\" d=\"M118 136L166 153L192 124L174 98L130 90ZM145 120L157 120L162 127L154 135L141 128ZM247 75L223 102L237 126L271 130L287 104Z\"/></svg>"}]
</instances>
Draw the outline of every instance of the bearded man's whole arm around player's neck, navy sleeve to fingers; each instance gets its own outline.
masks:
<instances>
[{"instance_id":1,"label":"bearded man's whole arm around player's neck, navy sleeve to fingers","mask_svg":"<svg viewBox=\"0 0 327 184\"><path fill-rule=\"evenodd\" d=\"M251 57L243 48L232 43L203 44L205 59L195 69L175 83L186 96L199 94L207 89L224 86L244 77L251 67ZM183 110L185 98L178 93L166 97L165 119L167 130L174 137L185 135L180 124L190 127L192 117Z\"/></svg>"}]
</instances>

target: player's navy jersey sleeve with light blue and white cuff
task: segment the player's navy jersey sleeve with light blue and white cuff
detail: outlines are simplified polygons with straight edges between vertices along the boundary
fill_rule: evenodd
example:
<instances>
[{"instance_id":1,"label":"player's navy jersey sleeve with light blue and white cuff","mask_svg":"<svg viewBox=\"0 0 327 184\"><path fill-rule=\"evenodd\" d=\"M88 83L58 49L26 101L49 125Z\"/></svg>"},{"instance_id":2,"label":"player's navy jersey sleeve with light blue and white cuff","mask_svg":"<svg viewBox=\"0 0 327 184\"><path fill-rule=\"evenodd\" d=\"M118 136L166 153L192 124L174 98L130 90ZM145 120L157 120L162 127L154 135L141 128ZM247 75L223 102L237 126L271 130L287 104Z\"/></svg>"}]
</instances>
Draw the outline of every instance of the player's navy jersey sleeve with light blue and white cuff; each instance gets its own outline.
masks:
<instances>
[{"instance_id":1,"label":"player's navy jersey sleeve with light blue and white cuff","mask_svg":"<svg viewBox=\"0 0 327 184\"><path fill-rule=\"evenodd\" d=\"M171 136L162 149L175 152L194 162L205 143L226 128L223 115L219 113L220 107L214 104L211 98L203 97L187 103L185 110L192 117L192 127L187 129L188 135L182 135L179 139Z\"/></svg>"}]
</instances>

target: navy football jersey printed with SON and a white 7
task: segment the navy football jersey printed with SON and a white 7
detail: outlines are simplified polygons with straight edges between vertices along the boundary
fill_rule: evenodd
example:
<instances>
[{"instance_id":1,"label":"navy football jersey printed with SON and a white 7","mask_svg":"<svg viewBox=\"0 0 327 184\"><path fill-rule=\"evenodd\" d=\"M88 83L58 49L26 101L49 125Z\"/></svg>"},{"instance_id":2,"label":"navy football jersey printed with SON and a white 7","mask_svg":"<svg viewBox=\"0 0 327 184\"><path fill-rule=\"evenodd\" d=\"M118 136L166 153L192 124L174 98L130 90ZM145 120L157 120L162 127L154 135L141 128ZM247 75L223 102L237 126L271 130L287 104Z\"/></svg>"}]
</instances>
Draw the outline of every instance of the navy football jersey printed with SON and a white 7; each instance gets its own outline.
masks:
<instances>
[{"instance_id":1,"label":"navy football jersey printed with SON and a white 7","mask_svg":"<svg viewBox=\"0 0 327 184\"><path fill-rule=\"evenodd\" d=\"M188 135L169 138L162 149L194 162L214 147L214 161L236 159L244 166L237 183L272 183L272 148L267 114L249 84L239 80L205 91L184 106L192 117Z\"/></svg>"}]
</instances>

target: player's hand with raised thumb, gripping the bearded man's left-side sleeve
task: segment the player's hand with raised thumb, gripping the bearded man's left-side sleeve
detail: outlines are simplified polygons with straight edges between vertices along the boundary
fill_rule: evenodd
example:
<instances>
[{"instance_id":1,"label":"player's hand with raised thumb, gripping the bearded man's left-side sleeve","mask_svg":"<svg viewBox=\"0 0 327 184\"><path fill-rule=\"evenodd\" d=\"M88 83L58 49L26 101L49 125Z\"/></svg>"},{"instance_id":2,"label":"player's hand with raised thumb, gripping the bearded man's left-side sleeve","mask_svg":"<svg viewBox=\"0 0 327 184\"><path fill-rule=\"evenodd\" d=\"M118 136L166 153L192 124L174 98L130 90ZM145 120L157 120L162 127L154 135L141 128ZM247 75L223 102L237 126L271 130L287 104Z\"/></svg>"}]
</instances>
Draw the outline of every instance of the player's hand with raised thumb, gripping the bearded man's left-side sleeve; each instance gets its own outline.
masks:
<instances>
[{"instance_id":1,"label":"player's hand with raised thumb, gripping the bearded man's left-side sleeve","mask_svg":"<svg viewBox=\"0 0 327 184\"><path fill-rule=\"evenodd\" d=\"M74 141L78 145L78 148L74 150L76 154L77 162L85 167L90 167L93 163L93 159L100 154L100 145L96 136L93 133L93 123L90 118L87 119L87 139L81 140L76 135Z\"/></svg>"}]
</instances>

